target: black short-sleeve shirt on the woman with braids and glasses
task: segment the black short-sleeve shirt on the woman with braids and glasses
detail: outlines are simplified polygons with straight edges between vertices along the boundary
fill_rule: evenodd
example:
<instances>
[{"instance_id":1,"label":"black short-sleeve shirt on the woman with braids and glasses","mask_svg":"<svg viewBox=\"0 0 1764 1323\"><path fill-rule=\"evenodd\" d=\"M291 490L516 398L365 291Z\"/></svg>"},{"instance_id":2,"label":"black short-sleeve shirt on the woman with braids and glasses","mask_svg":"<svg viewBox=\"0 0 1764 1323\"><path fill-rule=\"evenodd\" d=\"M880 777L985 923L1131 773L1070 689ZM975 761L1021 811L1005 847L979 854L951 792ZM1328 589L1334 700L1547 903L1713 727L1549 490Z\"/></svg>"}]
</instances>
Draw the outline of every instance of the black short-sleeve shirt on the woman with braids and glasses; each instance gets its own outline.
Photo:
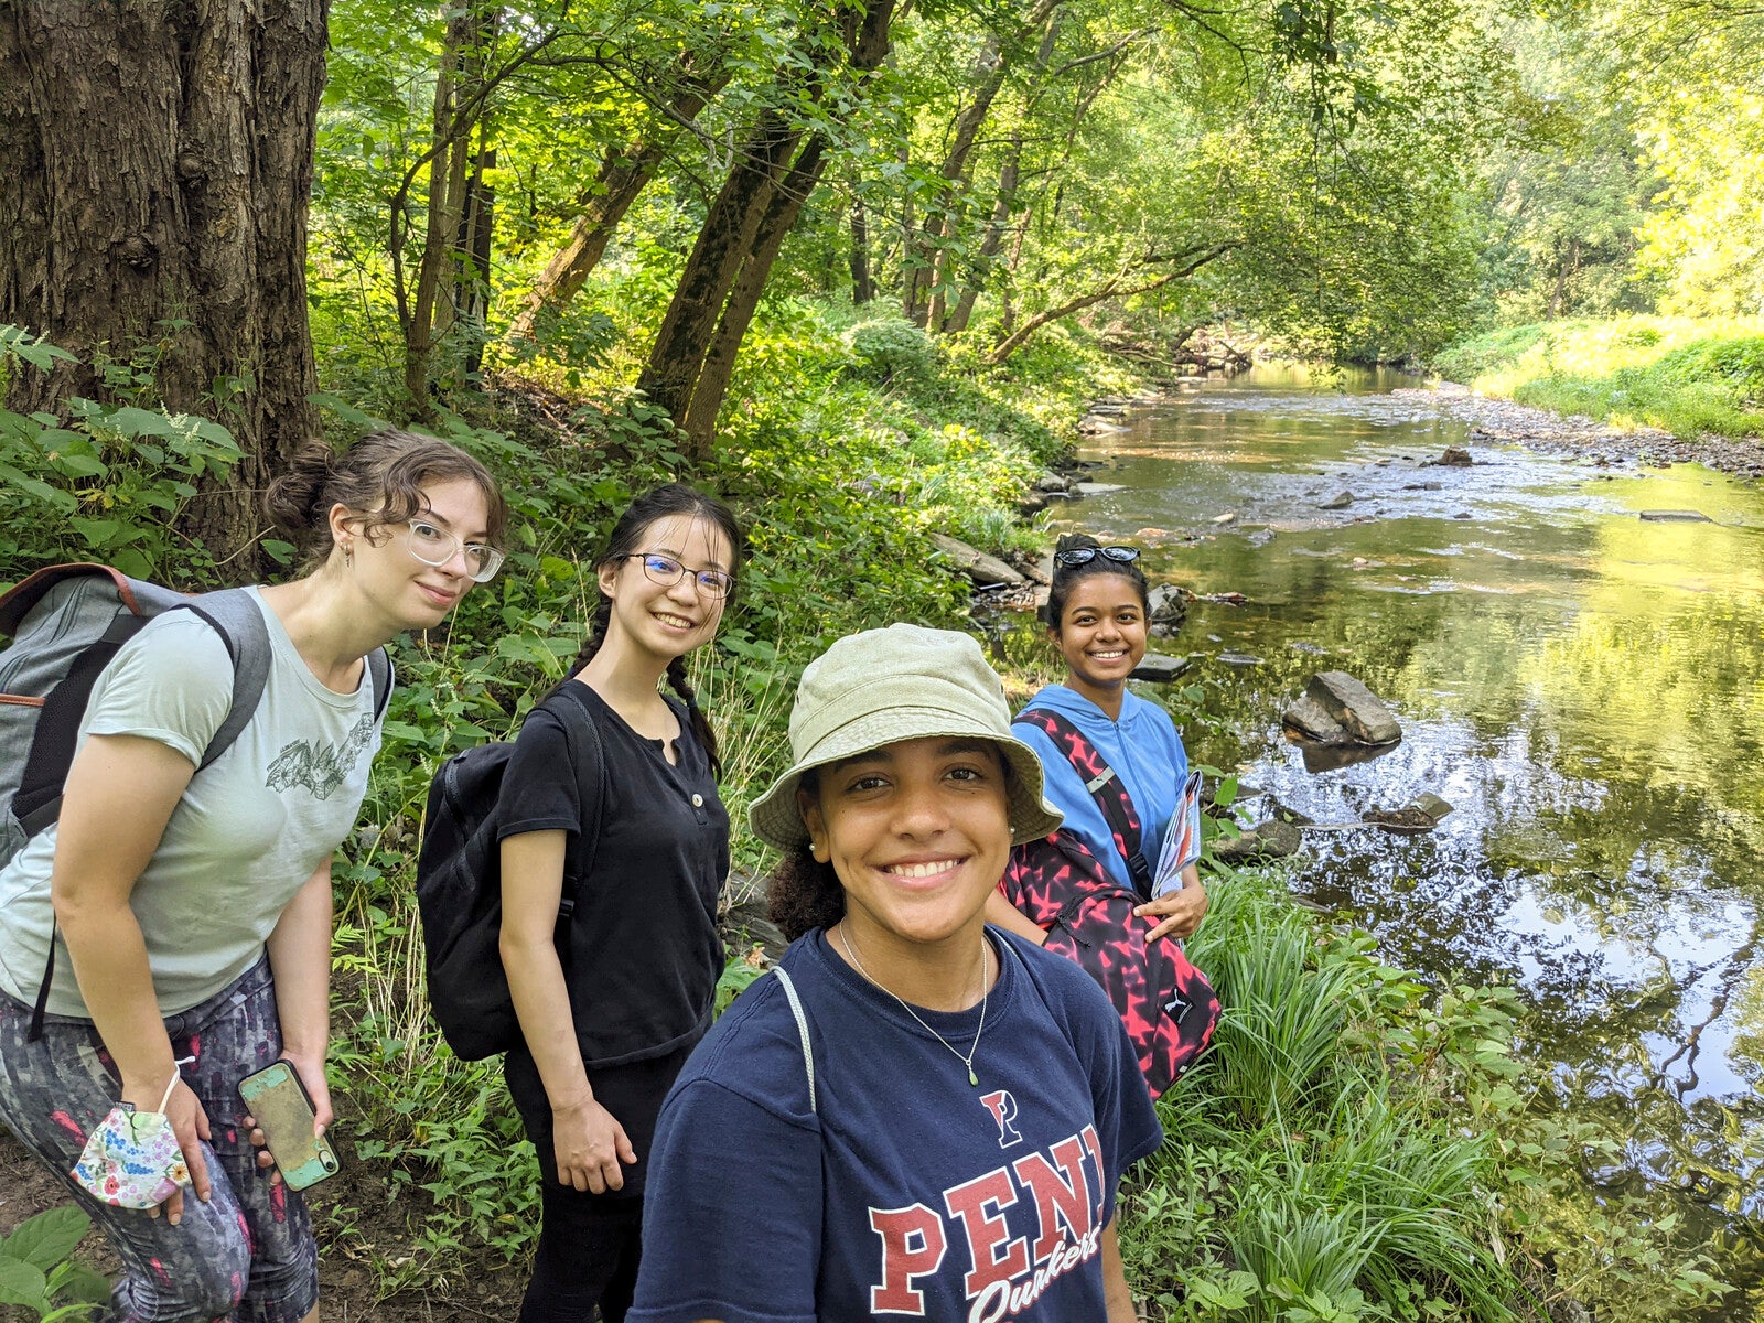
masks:
<instances>
[{"instance_id":1,"label":"black short-sleeve shirt on the woman with braids and glasses","mask_svg":"<svg viewBox=\"0 0 1764 1323\"><path fill-rule=\"evenodd\" d=\"M670 764L660 739L624 723L570 681L520 727L503 774L501 833L570 833L579 856L586 787L570 760L559 704L580 704L600 732L603 803L594 864L575 903L564 975L582 1062L617 1065L690 1046L711 1025L723 938L716 900L729 875L729 813L684 706Z\"/></svg>"}]
</instances>

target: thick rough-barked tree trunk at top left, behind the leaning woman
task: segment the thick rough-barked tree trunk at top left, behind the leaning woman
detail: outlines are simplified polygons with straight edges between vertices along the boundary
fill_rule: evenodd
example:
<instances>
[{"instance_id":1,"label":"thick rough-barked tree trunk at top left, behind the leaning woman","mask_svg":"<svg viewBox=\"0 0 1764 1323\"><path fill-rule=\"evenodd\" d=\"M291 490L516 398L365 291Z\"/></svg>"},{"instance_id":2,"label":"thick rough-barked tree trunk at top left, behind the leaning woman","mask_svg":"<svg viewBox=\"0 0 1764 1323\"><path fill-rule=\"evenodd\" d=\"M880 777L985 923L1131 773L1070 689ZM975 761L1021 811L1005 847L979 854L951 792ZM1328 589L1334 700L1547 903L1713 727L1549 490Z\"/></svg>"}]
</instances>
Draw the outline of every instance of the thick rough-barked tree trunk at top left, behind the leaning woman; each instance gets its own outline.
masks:
<instances>
[{"instance_id":1,"label":"thick rough-barked tree trunk at top left, behind the leaning woman","mask_svg":"<svg viewBox=\"0 0 1764 1323\"><path fill-rule=\"evenodd\" d=\"M83 360L19 372L7 407L106 399L95 355L150 365L166 407L217 416L245 452L182 519L215 559L259 536L252 494L318 436L305 261L325 41L326 0L0 7L0 323ZM249 552L233 564L259 570Z\"/></svg>"}]
</instances>

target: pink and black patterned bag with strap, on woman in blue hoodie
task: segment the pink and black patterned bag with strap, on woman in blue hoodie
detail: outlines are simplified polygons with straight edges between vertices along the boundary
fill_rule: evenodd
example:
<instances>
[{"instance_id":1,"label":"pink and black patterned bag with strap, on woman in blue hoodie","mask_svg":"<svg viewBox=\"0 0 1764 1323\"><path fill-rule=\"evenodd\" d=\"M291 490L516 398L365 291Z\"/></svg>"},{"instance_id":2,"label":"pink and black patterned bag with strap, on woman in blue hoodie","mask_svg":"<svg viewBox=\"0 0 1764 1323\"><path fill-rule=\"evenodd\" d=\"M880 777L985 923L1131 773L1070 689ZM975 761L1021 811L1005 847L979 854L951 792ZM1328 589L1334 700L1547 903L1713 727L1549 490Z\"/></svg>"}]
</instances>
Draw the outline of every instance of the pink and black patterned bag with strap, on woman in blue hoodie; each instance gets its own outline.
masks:
<instances>
[{"instance_id":1,"label":"pink and black patterned bag with strap, on woman in blue hoodie","mask_svg":"<svg viewBox=\"0 0 1764 1323\"><path fill-rule=\"evenodd\" d=\"M1046 730L1097 801L1134 886L1122 886L1083 841L1055 831L1011 850L1000 889L1048 933L1048 951L1083 965L1102 984L1140 1053L1152 1097L1162 1094L1212 1039L1219 998L1175 940L1147 944L1152 931L1132 910L1150 900L1152 875L1140 840L1140 815L1095 746L1058 713L1032 707L1018 721Z\"/></svg>"}]
</instances>

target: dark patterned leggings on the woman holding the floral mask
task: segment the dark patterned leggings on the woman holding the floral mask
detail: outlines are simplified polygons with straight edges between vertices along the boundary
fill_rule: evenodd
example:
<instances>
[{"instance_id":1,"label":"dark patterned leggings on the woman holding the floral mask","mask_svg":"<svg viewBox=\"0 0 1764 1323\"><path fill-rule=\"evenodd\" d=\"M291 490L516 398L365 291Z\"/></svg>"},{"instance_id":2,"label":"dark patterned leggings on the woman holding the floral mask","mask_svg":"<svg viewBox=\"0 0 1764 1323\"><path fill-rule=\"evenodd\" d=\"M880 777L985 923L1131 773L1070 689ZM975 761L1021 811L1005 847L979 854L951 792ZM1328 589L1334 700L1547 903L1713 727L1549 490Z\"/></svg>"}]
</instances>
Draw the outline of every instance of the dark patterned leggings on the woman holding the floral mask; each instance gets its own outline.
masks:
<instances>
[{"instance_id":1,"label":"dark patterned leggings on the woman holding the floral mask","mask_svg":"<svg viewBox=\"0 0 1764 1323\"><path fill-rule=\"evenodd\" d=\"M118 1076L90 1020L48 1016L26 1043L30 1007L0 995L0 1120L42 1159L104 1228L123 1261L111 1293L116 1323L296 1323L318 1304L318 1244L305 1200L270 1185L240 1127L238 1081L282 1051L270 961L166 1020L176 1057L194 1057L183 1081L208 1113L203 1143L213 1194L183 1194L171 1226L145 1210L99 1203L67 1178L86 1134L116 1102Z\"/></svg>"}]
</instances>

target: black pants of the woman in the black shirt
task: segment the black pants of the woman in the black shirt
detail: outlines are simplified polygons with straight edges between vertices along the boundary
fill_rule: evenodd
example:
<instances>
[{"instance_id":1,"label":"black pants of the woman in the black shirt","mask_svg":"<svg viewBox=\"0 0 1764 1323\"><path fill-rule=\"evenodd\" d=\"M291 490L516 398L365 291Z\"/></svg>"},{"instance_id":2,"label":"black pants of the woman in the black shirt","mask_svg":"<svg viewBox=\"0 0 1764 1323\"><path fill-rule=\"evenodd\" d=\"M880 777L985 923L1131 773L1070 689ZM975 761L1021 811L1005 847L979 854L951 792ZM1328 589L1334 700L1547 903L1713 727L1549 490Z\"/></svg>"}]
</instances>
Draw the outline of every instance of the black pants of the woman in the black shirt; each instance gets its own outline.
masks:
<instances>
[{"instance_id":1,"label":"black pants of the woman in the black shirt","mask_svg":"<svg viewBox=\"0 0 1764 1323\"><path fill-rule=\"evenodd\" d=\"M533 1256L533 1281L520 1302L520 1323L589 1323L594 1305L600 1305L605 1323L623 1323L637 1291L649 1145L662 1101L690 1055L686 1046L647 1062L589 1071L594 1101L617 1118L637 1150L637 1164L624 1168L624 1189L609 1194L559 1184L550 1099L538 1067L524 1048L505 1058L508 1092L538 1150L540 1208L545 1217Z\"/></svg>"}]
</instances>

